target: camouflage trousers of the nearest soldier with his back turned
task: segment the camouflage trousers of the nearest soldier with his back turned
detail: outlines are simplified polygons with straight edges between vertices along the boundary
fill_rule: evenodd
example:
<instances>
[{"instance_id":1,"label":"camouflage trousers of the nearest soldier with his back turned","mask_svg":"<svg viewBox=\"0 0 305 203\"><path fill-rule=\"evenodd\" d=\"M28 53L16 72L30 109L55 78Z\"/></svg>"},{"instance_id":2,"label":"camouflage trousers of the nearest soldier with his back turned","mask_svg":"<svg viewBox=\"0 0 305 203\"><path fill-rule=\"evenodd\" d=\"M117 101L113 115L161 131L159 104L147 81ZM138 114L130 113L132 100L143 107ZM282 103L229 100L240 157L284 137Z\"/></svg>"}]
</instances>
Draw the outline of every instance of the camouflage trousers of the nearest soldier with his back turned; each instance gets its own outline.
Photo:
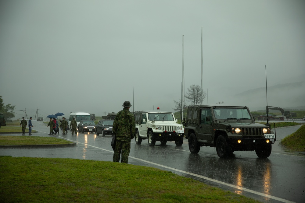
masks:
<instances>
[{"instance_id":1,"label":"camouflage trousers of the nearest soldier with his back turned","mask_svg":"<svg viewBox=\"0 0 305 203\"><path fill-rule=\"evenodd\" d=\"M114 153L113 153L113 162L120 161L120 155L122 152L122 160L121 163L128 163L128 156L130 152L130 142L125 141L116 141Z\"/></svg>"}]
</instances>

